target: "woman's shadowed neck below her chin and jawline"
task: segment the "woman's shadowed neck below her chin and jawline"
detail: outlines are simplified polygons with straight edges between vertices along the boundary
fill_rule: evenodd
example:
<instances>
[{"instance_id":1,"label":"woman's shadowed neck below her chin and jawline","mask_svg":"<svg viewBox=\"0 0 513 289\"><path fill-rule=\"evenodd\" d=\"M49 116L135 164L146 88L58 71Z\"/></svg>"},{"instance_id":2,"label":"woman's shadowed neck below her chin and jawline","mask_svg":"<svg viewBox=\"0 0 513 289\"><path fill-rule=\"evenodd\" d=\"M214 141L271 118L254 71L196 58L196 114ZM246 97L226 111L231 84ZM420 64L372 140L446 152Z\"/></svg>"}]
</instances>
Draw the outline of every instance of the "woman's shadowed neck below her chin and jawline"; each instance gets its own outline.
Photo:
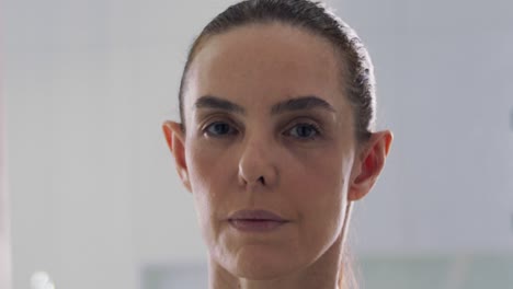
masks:
<instances>
[{"instance_id":1,"label":"woman's shadowed neck below her chin and jawline","mask_svg":"<svg viewBox=\"0 0 513 289\"><path fill-rule=\"evenodd\" d=\"M212 256L208 263L209 289L340 289L342 234L312 264L275 279L250 280L226 270Z\"/></svg>"}]
</instances>

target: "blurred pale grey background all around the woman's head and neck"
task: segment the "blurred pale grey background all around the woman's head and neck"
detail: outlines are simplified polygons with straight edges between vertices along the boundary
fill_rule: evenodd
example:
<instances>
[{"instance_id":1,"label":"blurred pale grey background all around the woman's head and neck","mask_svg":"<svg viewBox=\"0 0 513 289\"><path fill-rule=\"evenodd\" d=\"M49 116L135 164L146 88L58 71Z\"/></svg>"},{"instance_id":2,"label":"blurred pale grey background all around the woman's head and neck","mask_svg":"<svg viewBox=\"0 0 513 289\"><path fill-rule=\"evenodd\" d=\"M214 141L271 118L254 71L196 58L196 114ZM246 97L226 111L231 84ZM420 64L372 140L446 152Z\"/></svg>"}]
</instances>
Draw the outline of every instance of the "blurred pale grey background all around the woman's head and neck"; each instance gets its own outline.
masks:
<instances>
[{"instance_id":1,"label":"blurred pale grey background all around the woman's head and neck","mask_svg":"<svg viewBox=\"0 0 513 289\"><path fill-rule=\"evenodd\" d=\"M2 1L13 288L206 288L161 124L194 36L233 2ZM361 287L513 288L513 2L327 2L367 44L396 137L355 208Z\"/></svg>"}]
</instances>

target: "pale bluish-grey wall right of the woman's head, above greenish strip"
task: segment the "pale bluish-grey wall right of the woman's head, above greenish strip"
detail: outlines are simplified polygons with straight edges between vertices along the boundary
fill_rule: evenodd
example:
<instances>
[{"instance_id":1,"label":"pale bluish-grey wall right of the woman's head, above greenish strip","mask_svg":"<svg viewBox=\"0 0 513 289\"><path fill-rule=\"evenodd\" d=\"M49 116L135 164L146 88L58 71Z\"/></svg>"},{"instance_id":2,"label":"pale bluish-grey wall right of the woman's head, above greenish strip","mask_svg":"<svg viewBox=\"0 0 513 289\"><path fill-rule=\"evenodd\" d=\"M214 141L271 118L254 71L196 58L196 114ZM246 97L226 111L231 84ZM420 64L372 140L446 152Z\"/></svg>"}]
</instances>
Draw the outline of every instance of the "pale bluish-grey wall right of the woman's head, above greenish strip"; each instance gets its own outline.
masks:
<instances>
[{"instance_id":1,"label":"pale bluish-grey wall right of the woman's head, above greenish strip","mask_svg":"<svg viewBox=\"0 0 513 289\"><path fill-rule=\"evenodd\" d=\"M394 252L513 248L513 3L344 1L377 67L396 132L358 245ZM356 224L357 226L357 224Z\"/></svg>"}]
</instances>

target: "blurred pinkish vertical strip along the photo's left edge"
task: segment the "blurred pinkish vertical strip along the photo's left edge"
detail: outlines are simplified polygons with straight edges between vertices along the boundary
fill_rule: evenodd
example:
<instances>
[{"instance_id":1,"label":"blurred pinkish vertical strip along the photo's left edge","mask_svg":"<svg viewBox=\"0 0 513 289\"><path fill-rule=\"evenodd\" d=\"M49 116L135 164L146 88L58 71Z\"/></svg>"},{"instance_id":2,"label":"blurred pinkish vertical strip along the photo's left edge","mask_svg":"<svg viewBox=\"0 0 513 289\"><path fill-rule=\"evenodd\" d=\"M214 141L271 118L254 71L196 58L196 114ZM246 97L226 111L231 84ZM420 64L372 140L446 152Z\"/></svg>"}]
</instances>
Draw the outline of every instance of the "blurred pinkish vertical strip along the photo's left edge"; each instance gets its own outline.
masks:
<instances>
[{"instance_id":1,"label":"blurred pinkish vertical strip along the photo's left edge","mask_svg":"<svg viewBox=\"0 0 513 289\"><path fill-rule=\"evenodd\" d=\"M1 35L0 35L1 36ZM1 38L0 38L1 41ZM11 244L5 153L5 106L2 95L2 54L0 50L0 288L11 289Z\"/></svg>"}]
</instances>

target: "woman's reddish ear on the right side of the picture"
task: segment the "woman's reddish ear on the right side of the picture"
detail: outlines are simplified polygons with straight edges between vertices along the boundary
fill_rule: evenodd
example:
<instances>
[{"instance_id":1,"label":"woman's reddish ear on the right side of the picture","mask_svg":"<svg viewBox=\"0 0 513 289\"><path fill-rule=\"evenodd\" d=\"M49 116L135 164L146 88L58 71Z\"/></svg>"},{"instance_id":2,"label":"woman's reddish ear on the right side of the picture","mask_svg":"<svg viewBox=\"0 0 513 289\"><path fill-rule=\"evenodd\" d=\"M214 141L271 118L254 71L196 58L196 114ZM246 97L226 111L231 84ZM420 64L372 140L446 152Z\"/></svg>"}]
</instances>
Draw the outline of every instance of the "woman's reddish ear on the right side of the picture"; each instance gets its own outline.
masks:
<instances>
[{"instance_id":1,"label":"woman's reddish ear on the right side of the picture","mask_svg":"<svg viewBox=\"0 0 513 289\"><path fill-rule=\"evenodd\" d=\"M389 130L373 132L364 148L358 150L350 180L349 200L363 198L374 186L385 165L392 139Z\"/></svg>"}]
</instances>

